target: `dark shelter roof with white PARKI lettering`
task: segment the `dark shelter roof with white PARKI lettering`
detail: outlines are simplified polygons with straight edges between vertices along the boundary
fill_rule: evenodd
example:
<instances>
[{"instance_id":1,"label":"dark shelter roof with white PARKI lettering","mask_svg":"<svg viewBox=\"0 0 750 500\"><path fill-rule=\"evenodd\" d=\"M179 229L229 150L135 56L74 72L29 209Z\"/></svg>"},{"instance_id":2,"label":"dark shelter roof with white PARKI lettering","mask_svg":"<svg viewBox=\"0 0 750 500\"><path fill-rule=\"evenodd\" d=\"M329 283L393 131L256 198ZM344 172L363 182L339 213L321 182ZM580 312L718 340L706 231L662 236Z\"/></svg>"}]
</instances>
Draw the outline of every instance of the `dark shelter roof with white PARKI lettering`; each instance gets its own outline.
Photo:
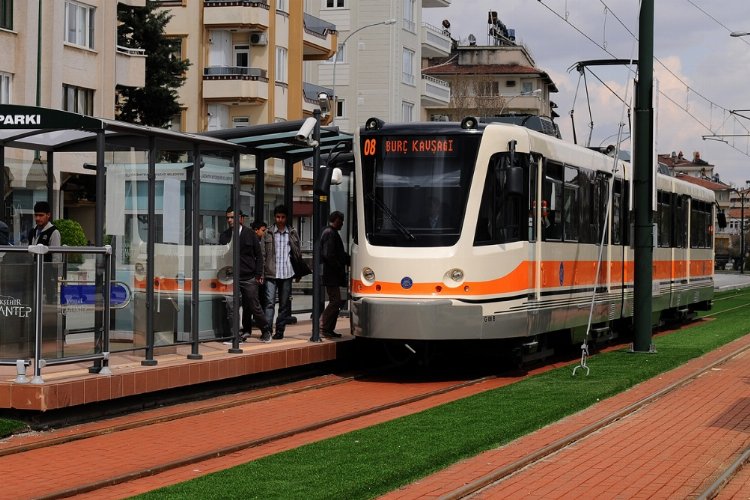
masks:
<instances>
[{"instance_id":1,"label":"dark shelter roof with white PARKI lettering","mask_svg":"<svg viewBox=\"0 0 750 500\"><path fill-rule=\"evenodd\" d=\"M179 150L200 146L202 151L232 151L235 143L201 134L186 134L58 109L15 104L0 105L0 146L53 152L96 151L97 134L103 132L105 149L149 149L149 139L159 149Z\"/></svg>"}]
</instances>

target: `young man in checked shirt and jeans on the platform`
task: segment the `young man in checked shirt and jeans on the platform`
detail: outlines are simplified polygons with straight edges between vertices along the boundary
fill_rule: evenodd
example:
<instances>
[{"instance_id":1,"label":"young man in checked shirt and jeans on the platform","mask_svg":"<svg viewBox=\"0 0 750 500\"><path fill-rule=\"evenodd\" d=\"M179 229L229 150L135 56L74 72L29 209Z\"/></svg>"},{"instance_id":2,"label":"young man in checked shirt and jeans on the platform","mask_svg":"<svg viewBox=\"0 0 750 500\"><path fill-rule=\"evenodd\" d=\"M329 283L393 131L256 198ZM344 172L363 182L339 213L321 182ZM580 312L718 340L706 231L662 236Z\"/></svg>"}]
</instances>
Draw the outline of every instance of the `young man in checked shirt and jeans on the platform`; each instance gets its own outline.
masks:
<instances>
[{"instance_id":1,"label":"young man in checked shirt and jeans on the platform","mask_svg":"<svg viewBox=\"0 0 750 500\"><path fill-rule=\"evenodd\" d=\"M276 295L279 297L279 314L276 317L276 333L273 338L284 338L284 329L292 316L292 268L291 253L302 254L297 231L287 225L289 212L286 206L279 205L273 211L275 223L268 229L263 244L265 247L266 276L266 320L273 324Z\"/></svg>"}]
</instances>

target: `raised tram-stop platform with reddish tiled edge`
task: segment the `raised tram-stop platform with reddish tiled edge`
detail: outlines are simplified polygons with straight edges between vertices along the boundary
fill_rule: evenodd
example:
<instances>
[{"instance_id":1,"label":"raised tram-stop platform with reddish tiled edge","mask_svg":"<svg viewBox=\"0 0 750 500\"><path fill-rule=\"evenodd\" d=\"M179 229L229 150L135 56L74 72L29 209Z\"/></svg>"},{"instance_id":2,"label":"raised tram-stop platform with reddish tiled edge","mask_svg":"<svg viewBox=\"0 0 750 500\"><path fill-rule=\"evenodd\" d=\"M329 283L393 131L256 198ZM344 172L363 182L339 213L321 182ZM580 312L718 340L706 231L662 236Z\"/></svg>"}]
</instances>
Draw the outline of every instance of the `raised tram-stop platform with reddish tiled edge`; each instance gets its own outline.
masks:
<instances>
[{"instance_id":1,"label":"raised tram-stop platform with reddish tiled edge","mask_svg":"<svg viewBox=\"0 0 750 500\"><path fill-rule=\"evenodd\" d=\"M16 383L15 366L0 366L0 409L54 410L332 361L354 339L348 334L348 318L339 319L337 331L344 336L313 343L312 322L298 321L287 326L284 339L262 343L254 330L253 337L240 344L242 353L230 353L231 345L223 342L205 342L199 360L187 358L191 345L158 348L162 354L154 357L156 366L141 364L143 350L115 352L109 361L111 375L89 373L91 361L55 365L42 369L43 384ZM31 378L32 368L27 375Z\"/></svg>"}]
</instances>

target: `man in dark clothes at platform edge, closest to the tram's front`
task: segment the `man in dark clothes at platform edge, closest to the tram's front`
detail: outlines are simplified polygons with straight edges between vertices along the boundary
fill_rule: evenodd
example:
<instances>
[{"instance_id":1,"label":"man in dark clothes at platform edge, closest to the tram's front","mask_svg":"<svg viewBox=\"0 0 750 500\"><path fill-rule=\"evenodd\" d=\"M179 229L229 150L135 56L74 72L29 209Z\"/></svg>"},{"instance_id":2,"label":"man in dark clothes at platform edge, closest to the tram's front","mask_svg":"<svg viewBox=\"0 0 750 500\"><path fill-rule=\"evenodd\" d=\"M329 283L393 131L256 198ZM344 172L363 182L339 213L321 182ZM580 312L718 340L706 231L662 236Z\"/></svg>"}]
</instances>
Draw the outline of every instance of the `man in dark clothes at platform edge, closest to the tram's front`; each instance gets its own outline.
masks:
<instances>
[{"instance_id":1,"label":"man in dark clothes at platform edge, closest to the tram's front","mask_svg":"<svg viewBox=\"0 0 750 500\"><path fill-rule=\"evenodd\" d=\"M344 249L339 231L344 226L344 214L338 210L328 217L328 227L320 235L320 259L323 262L323 286L328 295L328 306L320 315L320 334L324 337L341 337L336 333L336 320L344 301L341 299L341 287L346 287L346 266L349 265L349 254Z\"/></svg>"}]
</instances>

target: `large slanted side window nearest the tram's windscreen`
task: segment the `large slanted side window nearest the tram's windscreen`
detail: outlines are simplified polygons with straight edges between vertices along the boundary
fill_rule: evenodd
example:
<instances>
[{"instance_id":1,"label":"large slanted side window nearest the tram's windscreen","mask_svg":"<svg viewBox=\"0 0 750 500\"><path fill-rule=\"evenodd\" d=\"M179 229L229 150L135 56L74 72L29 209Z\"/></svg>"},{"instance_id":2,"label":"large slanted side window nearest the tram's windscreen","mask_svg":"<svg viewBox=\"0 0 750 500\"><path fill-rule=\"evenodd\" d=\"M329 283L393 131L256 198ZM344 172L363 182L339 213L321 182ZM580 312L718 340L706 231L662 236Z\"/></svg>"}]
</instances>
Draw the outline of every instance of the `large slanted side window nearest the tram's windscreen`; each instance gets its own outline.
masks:
<instances>
[{"instance_id":1,"label":"large slanted side window nearest the tram's windscreen","mask_svg":"<svg viewBox=\"0 0 750 500\"><path fill-rule=\"evenodd\" d=\"M484 182L482 202L479 207L474 243L492 245L519 241L528 225L526 199L528 189L528 161L524 155L514 156L515 164L507 153L490 158Z\"/></svg>"}]
</instances>

